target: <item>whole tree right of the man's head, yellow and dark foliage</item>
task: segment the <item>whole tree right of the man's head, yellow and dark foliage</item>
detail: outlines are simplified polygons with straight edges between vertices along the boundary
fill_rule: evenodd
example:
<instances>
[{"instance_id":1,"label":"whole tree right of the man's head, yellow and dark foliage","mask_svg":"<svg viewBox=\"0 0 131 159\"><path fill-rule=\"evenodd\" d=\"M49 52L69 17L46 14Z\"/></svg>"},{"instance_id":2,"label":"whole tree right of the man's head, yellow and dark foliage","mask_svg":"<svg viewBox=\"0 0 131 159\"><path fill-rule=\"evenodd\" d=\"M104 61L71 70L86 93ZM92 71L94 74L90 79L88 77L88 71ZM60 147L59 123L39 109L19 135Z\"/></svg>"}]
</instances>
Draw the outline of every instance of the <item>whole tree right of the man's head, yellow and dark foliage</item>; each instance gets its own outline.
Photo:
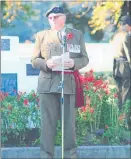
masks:
<instances>
[{"instance_id":1,"label":"whole tree right of the man's head, yellow and dark foliage","mask_svg":"<svg viewBox=\"0 0 131 159\"><path fill-rule=\"evenodd\" d=\"M123 0L76 0L65 2L63 6L68 11L67 23L72 23L83 33L90 32L91 37L99 41L105 33L113 34L118 29L121 16L126 15L127 11L130 14L129 3ZM72 8L76 10L72 12Z\"/></svg>"}]
</instances>

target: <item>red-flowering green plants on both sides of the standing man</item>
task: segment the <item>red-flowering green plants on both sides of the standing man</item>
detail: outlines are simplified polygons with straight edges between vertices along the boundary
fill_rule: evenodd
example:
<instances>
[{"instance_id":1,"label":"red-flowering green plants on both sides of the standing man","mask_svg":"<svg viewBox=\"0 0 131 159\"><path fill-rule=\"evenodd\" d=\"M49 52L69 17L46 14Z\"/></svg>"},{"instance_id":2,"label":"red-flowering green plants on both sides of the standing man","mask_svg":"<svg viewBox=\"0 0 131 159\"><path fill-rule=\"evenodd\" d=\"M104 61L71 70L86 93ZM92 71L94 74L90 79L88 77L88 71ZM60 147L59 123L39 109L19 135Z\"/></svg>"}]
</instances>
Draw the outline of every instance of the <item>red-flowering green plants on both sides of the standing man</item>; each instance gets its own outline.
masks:
<instances>
[{"instance_id":1,"label":"red-flowering green plants on both sides of the standing man","mask_svg":"<svg viewBox=\"0 0 131 159\"><path fill-rule=\"evenodd\" d=\"M94 74L92 70L81 76L86 106L77 109L77 145L104 144L103 139L107 139L109 145L121 145L125 136L130 134L127 126L130 101L126 102L123 111L120 112L116 88L110 88L107 79ZM1 118L2 145L8 143L10 135L16 140L19 138L18 146L27 145L25 142L27 130L32 127L39 129L39 135L31 144L39 145L39 98L34 91L19 92L17 96L4 94L1 102ZM57 125L55 144L61 145L60 121Z\"/></svg>"}]
</instances>

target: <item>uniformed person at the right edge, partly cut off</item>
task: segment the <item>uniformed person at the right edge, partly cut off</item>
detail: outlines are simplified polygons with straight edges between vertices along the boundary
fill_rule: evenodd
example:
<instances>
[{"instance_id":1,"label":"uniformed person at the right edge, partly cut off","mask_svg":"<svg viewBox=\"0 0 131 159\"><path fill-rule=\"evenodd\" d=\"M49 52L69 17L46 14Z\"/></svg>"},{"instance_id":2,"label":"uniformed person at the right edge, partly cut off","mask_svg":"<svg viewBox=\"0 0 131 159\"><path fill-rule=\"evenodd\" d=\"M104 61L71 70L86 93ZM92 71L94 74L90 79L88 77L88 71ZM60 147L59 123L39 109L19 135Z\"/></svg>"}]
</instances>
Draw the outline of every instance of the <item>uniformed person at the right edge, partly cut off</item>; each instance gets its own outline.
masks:
<instances>
[{"instance_id":1,"label":"uniformed person at the right edge, partly cut off","mask_svg":"<svg viewBox=\"0 0 131 159\"><path fill-rule=\"evenodd\" d=\"M113 75L118 88L119 109L122 110L127 99L131 99L131 18L124 16L121 29L113 38L115 50Z\"/></svg>"}]
</instances>

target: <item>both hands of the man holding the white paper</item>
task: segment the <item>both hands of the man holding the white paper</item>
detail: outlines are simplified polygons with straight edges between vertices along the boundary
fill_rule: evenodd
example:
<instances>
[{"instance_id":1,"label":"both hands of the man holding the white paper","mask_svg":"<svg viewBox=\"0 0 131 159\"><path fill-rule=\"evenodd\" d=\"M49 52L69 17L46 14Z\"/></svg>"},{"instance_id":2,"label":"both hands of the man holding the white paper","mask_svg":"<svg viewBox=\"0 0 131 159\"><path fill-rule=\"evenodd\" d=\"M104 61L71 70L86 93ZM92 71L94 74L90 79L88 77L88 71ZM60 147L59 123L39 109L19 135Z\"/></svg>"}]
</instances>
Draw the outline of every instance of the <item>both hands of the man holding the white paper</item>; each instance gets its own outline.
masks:
<instances>
[{"instance_id":1,"label":"both hands of the man holding the white paper","mask_svg":"<svg viewBox=\"0 0 131 159\"><path fill-rule=\"evenodd\" d=\"M56 63L53 59L49 59L46 61L46 65L48 68L53 69L54 67L57 67L59 63ZM74 60L71 58L69 58L68 61L64 61L64 67L73 68L74 65Z\"/></svg>"}]
</instances>

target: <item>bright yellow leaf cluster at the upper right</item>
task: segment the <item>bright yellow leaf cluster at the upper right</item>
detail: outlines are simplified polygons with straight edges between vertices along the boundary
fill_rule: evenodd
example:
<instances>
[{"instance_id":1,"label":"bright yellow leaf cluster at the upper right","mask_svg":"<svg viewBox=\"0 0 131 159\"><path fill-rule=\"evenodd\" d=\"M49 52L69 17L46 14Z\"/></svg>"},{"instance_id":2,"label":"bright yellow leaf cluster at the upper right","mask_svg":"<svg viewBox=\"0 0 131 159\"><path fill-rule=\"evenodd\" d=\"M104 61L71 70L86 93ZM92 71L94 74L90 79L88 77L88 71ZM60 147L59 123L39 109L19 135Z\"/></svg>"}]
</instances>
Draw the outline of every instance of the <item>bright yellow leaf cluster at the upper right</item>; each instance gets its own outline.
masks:
<instances>
[{"instance_id":1,"label":"bright yellow leaf cluster at the upper right","mask_svg":"<svg viewBox=\"0 0 131 159\"><path fill-rule=\"evenodd\" d=\"M99 30L113 27L118 24L121 16L121 8L124 2L102 2L97 3L94 7L91 20L88 24L92 28L91 34L95 34Z\"/></svg>"}]
</instances>

